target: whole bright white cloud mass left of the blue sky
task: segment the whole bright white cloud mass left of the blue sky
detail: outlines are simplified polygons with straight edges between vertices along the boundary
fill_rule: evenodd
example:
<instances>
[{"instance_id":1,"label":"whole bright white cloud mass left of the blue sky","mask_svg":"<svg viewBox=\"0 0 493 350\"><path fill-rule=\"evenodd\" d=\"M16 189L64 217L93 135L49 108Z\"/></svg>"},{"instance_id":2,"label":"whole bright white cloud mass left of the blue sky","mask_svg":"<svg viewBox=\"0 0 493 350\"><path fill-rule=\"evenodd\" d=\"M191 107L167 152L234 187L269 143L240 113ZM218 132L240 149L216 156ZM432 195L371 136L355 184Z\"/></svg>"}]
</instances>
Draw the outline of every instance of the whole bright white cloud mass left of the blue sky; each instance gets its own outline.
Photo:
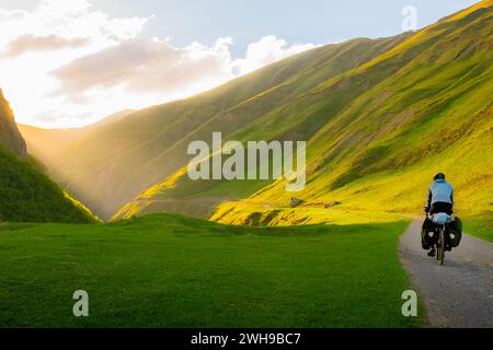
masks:
<instances>
[{"instance_id":1,"label":"whole bright white cloud mass left of the blue sky","mask_svg":"<svg viewBox=\"0 0 493 350\"><path fill-rule=\"evenodd\" d=\"M314 47L266 36L234 59L233 40L177 47L142 38L152 18L110 18L87 0L0 9L0 85L21 122L80 126L125 108L191 96Z\"/></svg>"}]
</instances>

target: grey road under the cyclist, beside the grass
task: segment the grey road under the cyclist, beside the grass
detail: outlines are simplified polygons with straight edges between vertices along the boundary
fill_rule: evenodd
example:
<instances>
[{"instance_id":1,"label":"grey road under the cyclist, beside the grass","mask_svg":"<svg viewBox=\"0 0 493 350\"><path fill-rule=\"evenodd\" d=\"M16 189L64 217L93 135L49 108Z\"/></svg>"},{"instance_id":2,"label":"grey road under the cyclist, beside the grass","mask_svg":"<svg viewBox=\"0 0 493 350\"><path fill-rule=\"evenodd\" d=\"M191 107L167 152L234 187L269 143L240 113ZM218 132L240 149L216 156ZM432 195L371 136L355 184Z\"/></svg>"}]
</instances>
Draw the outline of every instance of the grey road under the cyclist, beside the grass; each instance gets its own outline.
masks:
<instances>
[{"instance_id":1,"label":"grey road under the cyclist, beside the grass","mask_svg":"<svg viewBox=\"0 0 493 350\"><path fill-rule=\"evenodd\" d=\"M399 256L423 299L433 327L493 327L493 244L465 234L445 265L421 247L414 220L401 236Z\"/></svg>"}]
</instances>

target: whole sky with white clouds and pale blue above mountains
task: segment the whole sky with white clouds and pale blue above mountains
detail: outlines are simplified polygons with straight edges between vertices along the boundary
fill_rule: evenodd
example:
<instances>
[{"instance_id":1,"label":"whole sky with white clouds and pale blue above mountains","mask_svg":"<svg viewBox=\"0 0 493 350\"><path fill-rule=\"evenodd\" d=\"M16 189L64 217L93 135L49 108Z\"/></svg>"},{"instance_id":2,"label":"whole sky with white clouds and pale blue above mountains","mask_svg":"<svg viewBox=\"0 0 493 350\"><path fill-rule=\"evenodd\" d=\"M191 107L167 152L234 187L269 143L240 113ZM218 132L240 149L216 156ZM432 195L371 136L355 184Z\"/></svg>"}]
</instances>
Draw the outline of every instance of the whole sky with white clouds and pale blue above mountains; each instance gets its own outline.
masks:
<instances>
[{"instance_id":1,"label":"whole sky with white clouds and pale blue above mountains","mask_svg":"<svg viewBox=\"0 0 493 350\"><path fill-rule=\"evenodd\" d=\"M0 0L0 88L18 122L79 127L320 45L422 28L475 2Z\"/></svg>"}]
</instances>

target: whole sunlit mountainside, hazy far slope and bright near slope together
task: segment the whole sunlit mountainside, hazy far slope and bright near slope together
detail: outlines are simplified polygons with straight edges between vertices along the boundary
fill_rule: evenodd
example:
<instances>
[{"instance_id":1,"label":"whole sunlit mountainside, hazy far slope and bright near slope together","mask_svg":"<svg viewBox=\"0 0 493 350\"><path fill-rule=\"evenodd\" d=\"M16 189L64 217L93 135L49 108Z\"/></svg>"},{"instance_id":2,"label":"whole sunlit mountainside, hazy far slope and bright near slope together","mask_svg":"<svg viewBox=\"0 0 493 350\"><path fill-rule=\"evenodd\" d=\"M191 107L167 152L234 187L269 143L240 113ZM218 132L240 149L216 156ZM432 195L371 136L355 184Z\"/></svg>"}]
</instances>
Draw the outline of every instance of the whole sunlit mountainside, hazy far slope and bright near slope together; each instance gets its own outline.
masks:
<instances>
[{"instance_id":1,"label":"whole sunlit mountainside, hazy far slope and bright near slope together","mask_svg":"<svg viewBox=\"0 0 493 350\"><path fill-rule=\"evenodd\" d=\"M481 1L416 33L314 48L196 96L133 112L91 127L56 153L36 148L42 131L25 135L27 147L104 220L172 211L225 223L251 214L264 221L273 210L256 203L284 211L293 196L308 207L337 201L342 210L415 214L442 171L457 190L458 214L491 222L491 27L492 3ZM214 132L243 145L306 141L306 187L293 195L283 179L192 180L187 147ZM197 205L200 198L209 210Z\"/></svg>"}]
</instances>

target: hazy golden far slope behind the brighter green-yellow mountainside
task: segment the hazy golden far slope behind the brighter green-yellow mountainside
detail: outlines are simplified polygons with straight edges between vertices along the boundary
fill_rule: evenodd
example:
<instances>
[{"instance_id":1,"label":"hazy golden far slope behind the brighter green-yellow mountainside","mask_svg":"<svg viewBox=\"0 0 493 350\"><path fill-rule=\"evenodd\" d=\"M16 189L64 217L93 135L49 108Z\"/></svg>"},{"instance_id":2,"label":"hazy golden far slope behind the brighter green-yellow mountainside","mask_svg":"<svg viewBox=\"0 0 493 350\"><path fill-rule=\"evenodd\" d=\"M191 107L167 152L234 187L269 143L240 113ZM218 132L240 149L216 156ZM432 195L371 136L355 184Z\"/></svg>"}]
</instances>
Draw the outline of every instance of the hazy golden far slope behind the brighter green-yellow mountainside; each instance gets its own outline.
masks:
<instances>
[{"instance_id":1,"label":"hazy golden far slope behind the brighter green-yellow mountainside","mask_svg":"<svg viewBox=\"0 0 493 350\"><path fill-rule=\"evenodd\" d=\"M191 141L209 140L213 130L229 138L409 36L360 38L316 48L197 96L137 112L64 149L50 164L51 173L91 209L110 218L142 190L184 166ZM318 120L306 130L307 136L322 125L323 119ZM286 128L286 132L298 132L296 122Z\"/></svg>"}]
</instances>

